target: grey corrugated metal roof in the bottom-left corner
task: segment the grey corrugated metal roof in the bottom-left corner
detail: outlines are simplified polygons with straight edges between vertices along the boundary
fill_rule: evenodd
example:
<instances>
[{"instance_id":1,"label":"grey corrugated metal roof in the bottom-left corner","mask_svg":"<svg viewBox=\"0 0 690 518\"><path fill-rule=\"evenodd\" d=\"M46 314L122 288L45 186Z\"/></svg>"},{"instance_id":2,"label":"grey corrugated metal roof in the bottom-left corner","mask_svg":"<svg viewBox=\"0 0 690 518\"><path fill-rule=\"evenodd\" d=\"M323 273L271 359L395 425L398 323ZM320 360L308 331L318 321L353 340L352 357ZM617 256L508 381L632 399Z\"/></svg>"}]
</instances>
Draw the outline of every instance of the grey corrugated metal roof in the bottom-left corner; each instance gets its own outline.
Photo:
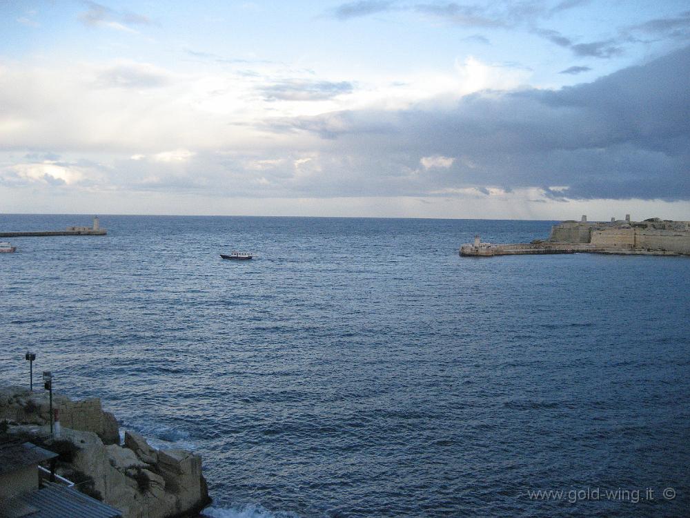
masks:
<instances>
[{"instance_id":1,"label":"grey corrugated metal roof in the bottom-left corner","mask_svg":"<svg viewBox=\"0 0 690 518\"><path fill-rule=\"evenodd\" d=\"M24 495L21 499L37 508L27 518L121 518L122 513L103 502L57 483Z\"/></svg>"}]
</instances>

